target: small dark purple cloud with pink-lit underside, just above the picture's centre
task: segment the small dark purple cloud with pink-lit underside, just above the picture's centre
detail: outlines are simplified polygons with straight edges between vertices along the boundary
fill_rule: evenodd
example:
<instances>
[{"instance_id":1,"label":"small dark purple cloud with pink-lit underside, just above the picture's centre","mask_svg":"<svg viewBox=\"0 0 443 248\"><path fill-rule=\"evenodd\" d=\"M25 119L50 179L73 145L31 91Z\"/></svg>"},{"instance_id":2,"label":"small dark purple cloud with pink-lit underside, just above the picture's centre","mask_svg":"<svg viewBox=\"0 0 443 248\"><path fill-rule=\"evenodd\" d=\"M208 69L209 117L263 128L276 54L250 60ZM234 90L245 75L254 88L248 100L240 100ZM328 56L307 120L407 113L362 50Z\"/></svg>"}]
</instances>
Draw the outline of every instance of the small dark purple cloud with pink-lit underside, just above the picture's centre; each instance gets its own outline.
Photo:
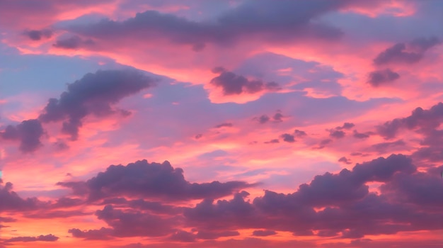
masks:
<instances>
[{"instance_id":1,"label":"small dark purple cloud with pink-lit underside, just above the picture's centre","mask_svg":"<svg viewBox=\"0 0 443 248\"><path fill-rule=\"evenodd\" d=\"M214 69L212 71L214 72ZM222 88L225 96L254 94L260 91L275 91L280 89L279 85L275 82L265 83L261 80L249 80L234 72L226 71L221 72L218 77L211 79L210 83Z\"/></svg>"}]
</instances>

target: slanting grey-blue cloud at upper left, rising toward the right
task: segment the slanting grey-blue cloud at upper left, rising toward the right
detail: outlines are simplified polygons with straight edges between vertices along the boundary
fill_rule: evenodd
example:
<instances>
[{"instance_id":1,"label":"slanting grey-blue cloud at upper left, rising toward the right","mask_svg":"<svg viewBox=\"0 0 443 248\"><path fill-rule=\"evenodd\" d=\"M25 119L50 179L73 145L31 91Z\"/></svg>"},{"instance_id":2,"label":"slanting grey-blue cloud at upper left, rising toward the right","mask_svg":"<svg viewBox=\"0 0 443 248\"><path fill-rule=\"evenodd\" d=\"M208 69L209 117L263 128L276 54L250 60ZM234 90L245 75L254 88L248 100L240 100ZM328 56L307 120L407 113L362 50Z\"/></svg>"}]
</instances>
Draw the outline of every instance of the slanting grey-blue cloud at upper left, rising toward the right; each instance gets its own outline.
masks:
<instances>
[{"instance_id":1,"label":"slanting grey-blue cloud at upper left, rising toward the right","mask_svg":"<svg viewBox=\"0 0 443 248\"><path fill-rule=\"evenodd\" d=\"M113 105L126 96L154 86L156 80L136 70L107 70L88 73L80 80L68 84L60 98L50 98L42 123L63 121L62 132L76 140L86 115L105 116L116 113ZM121 111L120 111L121 112Z\"/></svg>"}]
</instances>

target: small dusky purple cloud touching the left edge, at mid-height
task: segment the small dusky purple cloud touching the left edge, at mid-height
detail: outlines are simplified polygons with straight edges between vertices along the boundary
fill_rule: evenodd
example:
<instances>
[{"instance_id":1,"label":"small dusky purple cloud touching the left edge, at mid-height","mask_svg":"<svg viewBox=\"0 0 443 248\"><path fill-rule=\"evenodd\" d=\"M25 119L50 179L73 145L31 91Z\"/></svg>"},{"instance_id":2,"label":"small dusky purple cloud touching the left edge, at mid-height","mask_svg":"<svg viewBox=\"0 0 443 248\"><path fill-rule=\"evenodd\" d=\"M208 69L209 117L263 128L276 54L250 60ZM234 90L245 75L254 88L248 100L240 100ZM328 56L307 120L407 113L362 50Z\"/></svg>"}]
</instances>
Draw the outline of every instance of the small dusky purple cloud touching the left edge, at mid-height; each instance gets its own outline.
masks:
<instances>
[{"instance_id":1,"label":"small dusky purple cloud touching the left edge, at mid-height","mask_svg":"<svg viewBox=\"0 0 443 248\"><path fill-rule=\"evenodd\" d=\"M18 125L8 125L0 137L4 140L20 140L18 147L22 152L34 152L42 146L40 137L45 134L40 120L23 120Z\"/></svg>"}]
</instances>

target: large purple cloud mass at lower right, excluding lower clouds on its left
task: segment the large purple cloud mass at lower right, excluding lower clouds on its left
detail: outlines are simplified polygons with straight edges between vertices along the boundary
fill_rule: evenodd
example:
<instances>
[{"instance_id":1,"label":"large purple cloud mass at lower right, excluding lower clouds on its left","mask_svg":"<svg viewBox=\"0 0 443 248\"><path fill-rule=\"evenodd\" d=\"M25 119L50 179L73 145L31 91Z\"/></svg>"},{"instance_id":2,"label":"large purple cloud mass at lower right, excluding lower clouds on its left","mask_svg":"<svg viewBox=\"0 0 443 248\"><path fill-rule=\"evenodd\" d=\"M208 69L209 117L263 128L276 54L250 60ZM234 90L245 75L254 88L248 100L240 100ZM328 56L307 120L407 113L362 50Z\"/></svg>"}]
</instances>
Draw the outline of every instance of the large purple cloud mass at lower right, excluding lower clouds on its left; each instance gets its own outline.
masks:
<instances>
[{"instance_id":1,"label":"large purple cloud mass at lower right, excluding lower clouds on its left","mask_svg":"<svg viewBox=\"0 0 443 248\"><path fill-rule=\"evenodd\" d=\"M435 192L431 188L443 192L443 181L433 176L432 184L427 186L422 183L426 179L427 174L418 172L411 159L393 154L356 164L352 170L316 176L294 193L265 191L264 196L251 202L246 201L248 193L243 191L229 201L204 200L195 208L185 208L184 216L189 225L212 231L255 228L288 231L297 236L314 235L313 230L318 236L342 238L438 230L442 228L439 218L443 215L432 207L442 204L442 195L429 193ZM369 193L366 184L373 181L383 183L381 195ZM403 187L408 183L410 186ZM401 187L401 195L391 196ZM426 205L430 208L424 211Z\"/></svg>"}]
</instances>

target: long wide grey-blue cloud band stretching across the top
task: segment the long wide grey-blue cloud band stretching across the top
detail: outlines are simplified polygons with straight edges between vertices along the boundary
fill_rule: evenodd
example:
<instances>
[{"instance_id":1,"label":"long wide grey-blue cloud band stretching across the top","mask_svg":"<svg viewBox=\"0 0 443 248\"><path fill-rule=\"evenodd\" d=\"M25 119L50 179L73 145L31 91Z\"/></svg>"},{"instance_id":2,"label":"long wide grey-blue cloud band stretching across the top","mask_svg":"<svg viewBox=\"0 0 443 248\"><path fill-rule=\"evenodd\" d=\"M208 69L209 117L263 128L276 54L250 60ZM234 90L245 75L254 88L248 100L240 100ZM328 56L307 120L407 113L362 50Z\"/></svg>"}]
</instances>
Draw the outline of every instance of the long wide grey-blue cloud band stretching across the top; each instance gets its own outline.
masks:
<instances>
[{"instance_id":1,"label":"long wide grey-blue cloud band stretching across the top","mask_svg":"<svg viewBox=\"0 0 443 248\"><path fill-rule=\"evenodd\" d=\"M125 21L103 19L96 23L72 25L67 30L85 38L107 42L119 42L127 37L169 40L190 45L195 51L201 51L207 43L231 45L237 40L251 37L273 43L306 39L337 40L343 32L322 23L317 17L355 5L362 4L347 0L243 1L212 21L195 22L169 13L145 11Z\"/></svg>"}]
</instances>

